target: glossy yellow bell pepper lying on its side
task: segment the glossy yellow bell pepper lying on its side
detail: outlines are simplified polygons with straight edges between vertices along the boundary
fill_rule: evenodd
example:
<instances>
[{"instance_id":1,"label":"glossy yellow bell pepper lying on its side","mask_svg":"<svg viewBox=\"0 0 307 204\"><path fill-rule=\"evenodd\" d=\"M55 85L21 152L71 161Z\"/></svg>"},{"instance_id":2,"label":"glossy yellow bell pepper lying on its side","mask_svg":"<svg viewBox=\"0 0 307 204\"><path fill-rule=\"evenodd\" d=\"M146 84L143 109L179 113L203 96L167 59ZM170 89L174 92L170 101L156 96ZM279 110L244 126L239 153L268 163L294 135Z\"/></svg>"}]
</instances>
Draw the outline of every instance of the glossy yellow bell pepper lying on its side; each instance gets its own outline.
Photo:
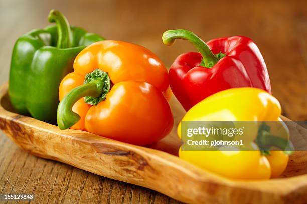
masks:
<instances>
[{"instance_id":1,"label":"glossy yellow bell pepper lying on its side","mask_svg":"<svg viewBox=\"0 0 307 204\"><path fill-rule=\"evenodd\" d=\"M179 157L203 169L233 179L268 179L278 177L286 168L292 148L289 131L279 118L278 100L257 88L233 88L218 92L193 106L182 121L263 121L251 132L247 145L254 150L179 150ZM266 121L278 121L284 134L268 128ZM181 138L181 125L178 135ZM259 145L279 148L260 151Z\"/></svg>"}]
</instances>

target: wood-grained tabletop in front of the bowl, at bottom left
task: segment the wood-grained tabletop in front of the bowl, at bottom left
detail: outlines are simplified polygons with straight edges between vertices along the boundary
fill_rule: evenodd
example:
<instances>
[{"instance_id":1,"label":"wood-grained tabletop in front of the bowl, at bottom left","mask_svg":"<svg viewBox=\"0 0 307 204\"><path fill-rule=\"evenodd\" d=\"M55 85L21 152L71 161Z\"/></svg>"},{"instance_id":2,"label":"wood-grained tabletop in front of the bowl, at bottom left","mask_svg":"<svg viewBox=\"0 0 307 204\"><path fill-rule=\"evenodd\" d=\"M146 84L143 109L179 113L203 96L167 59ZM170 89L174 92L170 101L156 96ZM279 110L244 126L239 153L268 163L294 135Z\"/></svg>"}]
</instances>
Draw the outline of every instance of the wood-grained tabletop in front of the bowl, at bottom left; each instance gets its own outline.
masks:
<instances>
[{"instance_id":1,"label":"wood-grained tabletop in front of the bowl, at bottom left","mask_svg":"<svg viewBox=\"0 0 307 204\"><path fill-rule=\"evenodd\" d=\"M6 155L0 160L2 194L34 194L34 203L178 203L144 187L35 157L11 143L0 137L0 155Z\"/></svg>"}]
</instances>

